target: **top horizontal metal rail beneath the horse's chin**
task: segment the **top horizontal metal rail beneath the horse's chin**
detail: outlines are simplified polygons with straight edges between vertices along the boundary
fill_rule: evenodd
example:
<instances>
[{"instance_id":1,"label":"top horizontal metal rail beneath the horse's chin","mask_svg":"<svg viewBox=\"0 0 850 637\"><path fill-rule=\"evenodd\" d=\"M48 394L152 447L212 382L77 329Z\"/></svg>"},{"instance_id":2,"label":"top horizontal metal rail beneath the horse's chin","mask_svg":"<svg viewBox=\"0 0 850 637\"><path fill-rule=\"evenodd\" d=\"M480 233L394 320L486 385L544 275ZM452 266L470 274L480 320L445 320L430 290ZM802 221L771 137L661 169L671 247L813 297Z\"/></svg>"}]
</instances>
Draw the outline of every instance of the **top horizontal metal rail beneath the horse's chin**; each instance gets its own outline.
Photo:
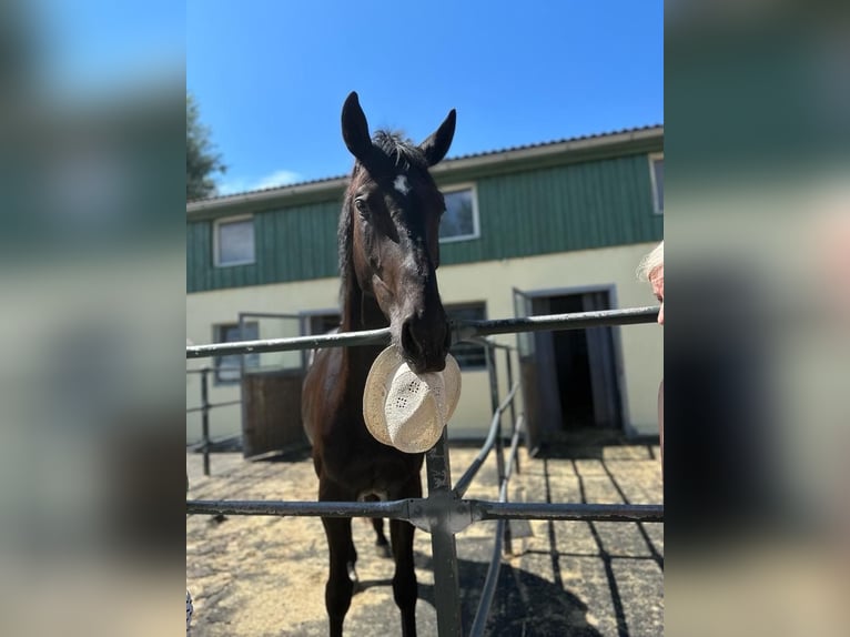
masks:
<instances>
[{"instance_id":1,"label":"top horizontal metal rail beneath the horse's chin","mask_svg":"<svg viewBox=\"0 0 850 637\"><path fill-rule=\"evenodd\" d=\"M605 310L600 312L578 312L574 314L547 314L525 318L497 318L495 321L456 321L452 324L452 342L468 341L475 336L513 334L515 332L545 332L547 330L583 330L599 325L635 325L652 323L658 316L658 307L629 307L626 310ZM295 336L292 338L270 338L265 341L240 341L234 343L211 343L208 345L186 346L186 358L206 358L234 354L254 354L264 352L293 352L316 347L347 347L351 345L381 345L389 343L389 327L344 332L317 336Z\"/></svg>"}]
</instances>

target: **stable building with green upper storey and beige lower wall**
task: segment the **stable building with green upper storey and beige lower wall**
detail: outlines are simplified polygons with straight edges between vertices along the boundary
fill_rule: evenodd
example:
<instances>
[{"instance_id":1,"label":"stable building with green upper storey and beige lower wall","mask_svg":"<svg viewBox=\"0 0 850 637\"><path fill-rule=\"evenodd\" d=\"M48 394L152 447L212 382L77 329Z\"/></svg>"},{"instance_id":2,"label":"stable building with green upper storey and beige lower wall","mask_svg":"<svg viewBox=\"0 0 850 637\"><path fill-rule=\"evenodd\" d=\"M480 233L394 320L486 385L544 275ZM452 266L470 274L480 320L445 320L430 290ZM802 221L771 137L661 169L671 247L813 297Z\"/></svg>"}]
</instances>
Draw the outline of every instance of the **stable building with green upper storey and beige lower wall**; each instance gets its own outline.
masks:
<instances>
[{"instance_id":1,"label":"stable building with green upper storey and beige lower wall","mask_svg":"<svg viewBox=\"0 0 850 637\"><path fill-rule=\"evenodd\" d=\"M444 160L439 290L449 316L506 318L652 305L636 279L664 235L664 128L646 127ZM186 205L186 338L229 342L322 334L338 323L336 226L346 178L213 198ZM596 327L495 341L523 345L534 383L526 410L546 441L596 427L657 434L664 372L657 325ZM463 372L451 438L479 438L492 417L484 350L453 348ZM213 438L246 455L301 441L307 353L189 361L209 366ZM507 391L502 355L499 384ZM514 366L515 376L518 365ZM201 401L186 375L186 406ZM198 412L186 441L201 438Z\"/></svg>"}]
</instances>

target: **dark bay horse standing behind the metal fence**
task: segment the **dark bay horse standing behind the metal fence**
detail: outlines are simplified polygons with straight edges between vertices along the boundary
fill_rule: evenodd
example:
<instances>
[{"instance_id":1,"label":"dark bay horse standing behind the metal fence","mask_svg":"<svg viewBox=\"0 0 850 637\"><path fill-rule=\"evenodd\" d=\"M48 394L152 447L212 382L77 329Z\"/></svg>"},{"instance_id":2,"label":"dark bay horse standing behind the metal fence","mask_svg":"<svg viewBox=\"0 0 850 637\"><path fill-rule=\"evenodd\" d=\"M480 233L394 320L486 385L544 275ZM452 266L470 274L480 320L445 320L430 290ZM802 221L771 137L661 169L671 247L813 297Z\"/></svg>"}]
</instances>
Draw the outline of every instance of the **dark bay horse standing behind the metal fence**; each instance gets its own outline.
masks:
<instances>
[{"instance_id":1,"label":"dark bay horse standing behind the metal fence","mask_svg":"<svg viewBox=\"0 0 850 637\"><path fill-rule=\"evenodd\" d=\"M445 202L428 169L448 152L455 111L419 145L384 131L373 139L357 94L351 93L343 105L342 130L356 161L340 216L340 331L388 325L393 345L415 372L439 372L451 344L436 279ZM304 380L302 416L313 444L320 501L422 496L424 455L378 443L363 422L363 390L381 350L321 350ZM351 605L354 583L348 574L354 572L357 553L351 518L323 518L322 523L331 560L325 585L330 634L340 636ZM385 546L383 520L375 520L375 530L378 545ZM416 635L413 532L407 522L389 523L393 597L405 637Z\"/></svg>"}]
</instances>

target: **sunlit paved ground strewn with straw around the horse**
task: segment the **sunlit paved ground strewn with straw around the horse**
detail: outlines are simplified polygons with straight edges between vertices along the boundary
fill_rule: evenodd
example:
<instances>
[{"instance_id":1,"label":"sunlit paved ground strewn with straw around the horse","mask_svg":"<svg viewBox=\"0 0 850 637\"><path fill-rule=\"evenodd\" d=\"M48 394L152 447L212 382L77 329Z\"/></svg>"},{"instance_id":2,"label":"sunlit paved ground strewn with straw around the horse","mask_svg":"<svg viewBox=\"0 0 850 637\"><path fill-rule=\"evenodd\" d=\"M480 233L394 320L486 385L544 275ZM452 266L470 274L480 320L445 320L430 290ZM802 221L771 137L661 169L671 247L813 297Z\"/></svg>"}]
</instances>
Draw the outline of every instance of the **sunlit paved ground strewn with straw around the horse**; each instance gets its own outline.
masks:
<instances>
[{"instance_id":1,"label":"sunlit paved ground strewn with straw around the horse","mask_svg":"<svg viewBox=\"0 0 850 637\"><path fill-rule=\"evenodd\" d=\"M655 445L570 445L546 458L520 451L522 473L512 481L515 502L662 502ZM476 448L453 446L455 478ZM203 476L198 454L186 454L191 499L315 498L317 481L306 453L246 462L240 454L212 456ZM492 455L466 494L496 499ZM397 635L393 563L372 549L366 519L354 520L361 590L346 616L350 636ZM495 523L457 535L465 628L480 597ZM664 525L636 523L512 523L513 554L503 559L490 610L494 636L650 636L664 633ZM415 536L418 634L436 636L431 536ZM229 516L186 518L186 588L194 597L194 637L323 636L326 545L318 518Z\"/></svg>"}]
</instances>

